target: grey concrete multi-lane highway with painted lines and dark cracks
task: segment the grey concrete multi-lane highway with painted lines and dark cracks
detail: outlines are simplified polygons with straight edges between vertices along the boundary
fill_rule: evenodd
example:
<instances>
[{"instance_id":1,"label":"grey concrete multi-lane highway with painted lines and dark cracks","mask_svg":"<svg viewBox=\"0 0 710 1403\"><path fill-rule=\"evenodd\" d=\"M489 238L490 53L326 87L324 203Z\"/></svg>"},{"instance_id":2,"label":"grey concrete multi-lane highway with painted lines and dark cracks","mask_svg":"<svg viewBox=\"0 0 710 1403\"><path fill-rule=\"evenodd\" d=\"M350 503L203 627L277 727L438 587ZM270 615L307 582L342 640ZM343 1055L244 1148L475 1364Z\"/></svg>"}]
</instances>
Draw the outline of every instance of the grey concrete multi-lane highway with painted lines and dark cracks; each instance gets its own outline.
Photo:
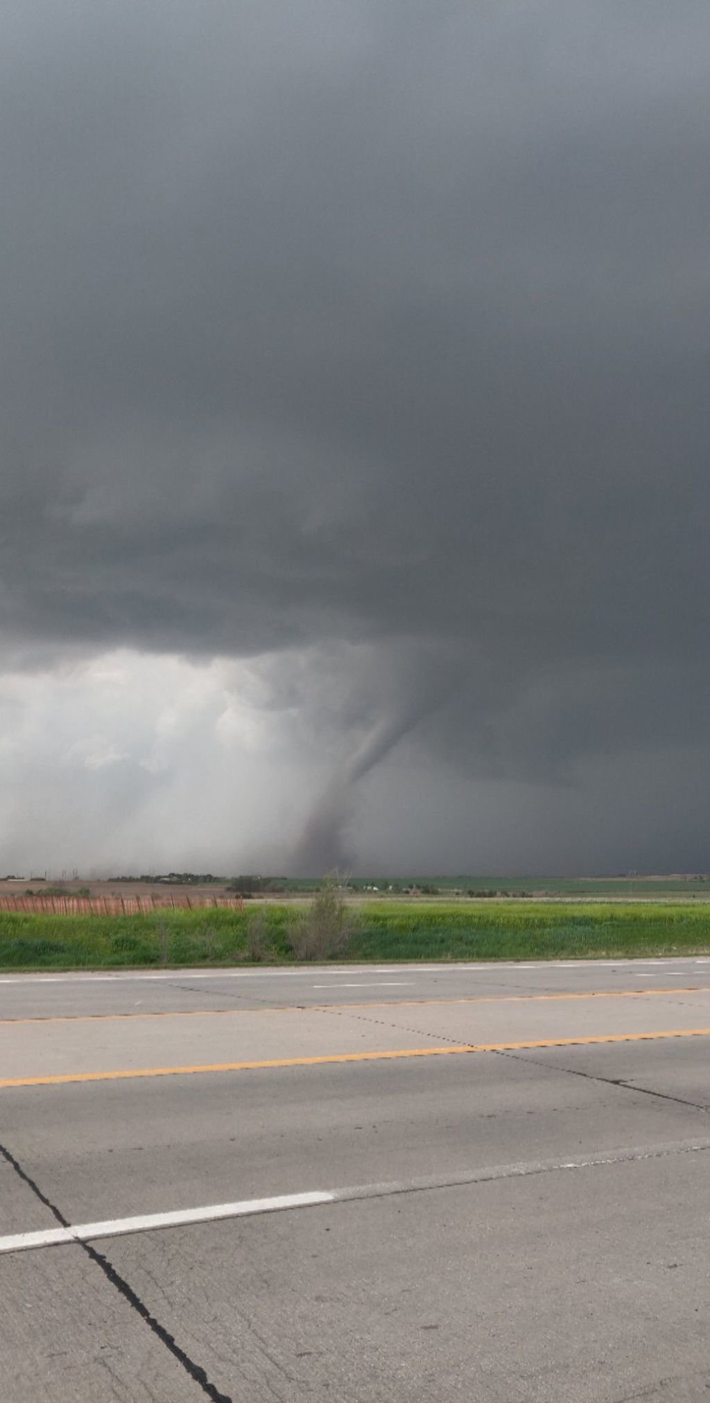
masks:
<instances>
[{"instance_id":1,"label":"grey concrete multi-lane highway with painted lines and dark cracks","mask_svg":"<svg viewBox=\"0 0 710 1403\"><path fill-rule=\"evenodd\" d=\"M0 976L3 1403L710 1403L710 960Z\"/></svg>"}]
</instances>

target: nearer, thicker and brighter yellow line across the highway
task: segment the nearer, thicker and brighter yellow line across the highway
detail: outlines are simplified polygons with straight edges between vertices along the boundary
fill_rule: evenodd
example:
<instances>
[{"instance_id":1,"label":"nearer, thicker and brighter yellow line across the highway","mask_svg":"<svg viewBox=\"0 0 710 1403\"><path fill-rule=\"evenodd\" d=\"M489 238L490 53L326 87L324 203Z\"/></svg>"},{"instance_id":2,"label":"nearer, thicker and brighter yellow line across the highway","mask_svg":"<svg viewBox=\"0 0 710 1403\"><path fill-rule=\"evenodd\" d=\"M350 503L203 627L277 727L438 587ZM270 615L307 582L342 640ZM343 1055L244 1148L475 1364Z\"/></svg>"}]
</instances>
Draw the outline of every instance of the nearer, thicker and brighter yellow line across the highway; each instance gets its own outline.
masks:
<instances>
[{"instance_id":1,"label":"nearer, thicker and brighter yellow line across the highway","mask_svg":"<svg viewBox=\"0 0 710 1403\"><path fill-rule=\"evenodd\" d=\"M58 1076L17 1076L0 1080L0 1087L60 1086L66 1082L122 1082L145 1076L194 1076L206 1072L258 1072L267 1068L320 1066L328 1062L387 1062L393 1058L455 1056L460 1052L514 1052L533 1048L589 1047L601 1042L650 1042L658 1038L710 1037L710 1028L674 1028L659 1033L606 1033L596 1037L536 1038L523 1042L462 1042L445 1048L400 1048L387 1052L331 1052L324 1056L271 1058L260 1062L213 1062L201 1066L149 1066L115 1072L63 1072Z\"/></svg>"}]
</instances>

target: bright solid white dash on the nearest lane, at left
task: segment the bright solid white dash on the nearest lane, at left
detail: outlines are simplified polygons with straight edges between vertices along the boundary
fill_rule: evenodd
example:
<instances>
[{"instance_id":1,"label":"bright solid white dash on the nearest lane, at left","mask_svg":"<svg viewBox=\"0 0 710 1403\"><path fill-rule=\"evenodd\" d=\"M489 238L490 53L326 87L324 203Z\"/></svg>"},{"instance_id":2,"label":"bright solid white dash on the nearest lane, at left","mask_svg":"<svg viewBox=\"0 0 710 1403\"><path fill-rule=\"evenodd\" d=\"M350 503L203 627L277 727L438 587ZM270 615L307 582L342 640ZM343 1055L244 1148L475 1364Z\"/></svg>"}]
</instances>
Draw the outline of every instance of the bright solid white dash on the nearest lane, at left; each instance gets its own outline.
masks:
<instances>
[{"instance_id":1,"label":"bright solid white dash on the nearest lane, at left","mask_svg":"<svg viewBox=\"0 0 710 1403\"><path fill-rule=\"evenodd\" d=\"M123 1233L152 1232L156 1228L185 1228L189 1223L217 1222L220 1218L275 1214L282 1208L313 1208L316 1204L333 1204L334 1200L335 1194L330 1193L278 1194L275 1198L243 1198L236 1204L182 1208L171 1214L142 1214L139 1218L108 1218L105 1222L49 1228L46 1232L20 1232L0 1237L0 1253L56 1247L59 1243L90 1242L93 1237L121 1237Z\"/></svg>"}]
</instances>

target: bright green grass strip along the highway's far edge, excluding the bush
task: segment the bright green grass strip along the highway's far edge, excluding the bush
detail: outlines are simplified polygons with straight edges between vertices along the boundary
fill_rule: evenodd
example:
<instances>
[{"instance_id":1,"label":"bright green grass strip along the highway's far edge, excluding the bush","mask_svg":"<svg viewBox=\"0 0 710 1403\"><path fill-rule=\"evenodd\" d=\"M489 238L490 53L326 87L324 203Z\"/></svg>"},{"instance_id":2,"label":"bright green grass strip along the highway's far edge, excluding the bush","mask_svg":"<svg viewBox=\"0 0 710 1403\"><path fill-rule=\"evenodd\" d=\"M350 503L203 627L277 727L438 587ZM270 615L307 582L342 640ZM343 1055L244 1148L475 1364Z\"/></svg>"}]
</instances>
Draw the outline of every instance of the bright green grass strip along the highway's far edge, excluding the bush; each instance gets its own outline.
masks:
<instances>
[{"instance_id":1,"label":"bright green grass strip along the highway's far edge, excluding the bush","mask_svg":"<svg viewBox=\"0 0 710 1403\"><path fill-rule=\"evenodd\" d=\"M710 953L700 904L366 901L338 960L546 960ZM143 916L0 913L0 968L98 969L293 962L293 909Z\"/></svg>"}]
</instances>

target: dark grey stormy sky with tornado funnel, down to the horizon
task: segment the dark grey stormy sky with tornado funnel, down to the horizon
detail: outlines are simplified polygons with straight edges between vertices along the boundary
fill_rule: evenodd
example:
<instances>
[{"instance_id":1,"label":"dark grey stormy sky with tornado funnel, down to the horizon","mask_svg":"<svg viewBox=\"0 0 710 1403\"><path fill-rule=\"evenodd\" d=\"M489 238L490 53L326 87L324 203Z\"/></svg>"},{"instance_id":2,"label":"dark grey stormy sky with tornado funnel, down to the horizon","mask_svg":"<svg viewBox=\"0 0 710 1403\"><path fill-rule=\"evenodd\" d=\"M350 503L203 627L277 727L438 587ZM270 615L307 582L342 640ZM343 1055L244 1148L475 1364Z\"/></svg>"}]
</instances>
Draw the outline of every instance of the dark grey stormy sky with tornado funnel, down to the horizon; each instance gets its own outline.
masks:
<instances>
[{"instance_id":1,"label":"dark grey stormy sky with tornado funnel, down to the horizon","mask_svg":"<svg viewBox=\"0 0 710 1403\"><path fill-rule=\"evenodd\" d=\"M709 867L704 0L11 0L0 868Z\"/></svg>"}]
</instances>

